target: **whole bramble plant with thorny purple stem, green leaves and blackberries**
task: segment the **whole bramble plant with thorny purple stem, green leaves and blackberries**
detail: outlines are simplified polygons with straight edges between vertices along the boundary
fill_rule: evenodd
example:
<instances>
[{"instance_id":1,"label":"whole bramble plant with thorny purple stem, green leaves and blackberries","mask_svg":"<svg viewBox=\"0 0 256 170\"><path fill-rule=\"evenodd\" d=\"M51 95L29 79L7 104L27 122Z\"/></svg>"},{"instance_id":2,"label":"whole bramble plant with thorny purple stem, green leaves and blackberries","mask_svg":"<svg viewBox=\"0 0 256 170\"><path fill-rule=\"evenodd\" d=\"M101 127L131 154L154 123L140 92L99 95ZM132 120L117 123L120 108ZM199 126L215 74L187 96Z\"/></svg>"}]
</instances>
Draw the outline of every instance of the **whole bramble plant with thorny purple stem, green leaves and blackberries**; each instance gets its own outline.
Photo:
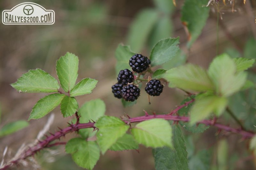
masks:
<instances>
[{"instance_id":1,"label":"whole bramble plant with thorny purple stem, green leaves and blackberries","mask_svg":"<svg viewBox=\"0 0 256 170\"><path fill-rule=\"evenodd\" d=\"M151 115L145 112L144 116L124 115L122 118L105 115L106 106L101 99L87 101L79 107L76 97L90 94L98 81L84 78L77 83L79 59L72 53L66 53L56 63L58 80L37 68L21 75L11 86L18 92L49 93L37 101L28 121L48 115L58 105L63 117L75 115L75 119L67 127L46 135L43 140L25 149L16 159L2 165L1 169L11 168L38 151L56 145L65 145L66 153L71 154L80 167L93 169L100 155L108 150L138 150L139 145L144 145L153 148L156 170L224 170L228 168L229 162L227 140L219 141L218 164L211 166L213 151L194 153L193 142L184 138L184 129L190 133L203 133L211 126L218 128L219 133L225 131L240 135L243 140L250 142L248 154L256 153L255 74L251 71L256 56L219 54L208 69L186 63L186 55L179 48L179 37L170 38L170 33L165 31L165 27L171 25L168 17L173 5L167 1L167 5L161 2L165 1L156 3L157 9L164 11L161 18L157 10L141 11L129 32L127 44L131 46L118 45L115 53L118 81L112 86L112 92L124 107L131 107L136 104L140 93L157 97L163 88L179 88L187 93L181 105L168 114ZM207 3L208 0L184 2L181 21L189 32L187 48L197 40L206 23L209 14ZM150 32L154 36L148 38ZM146 40L152 48L148 57L137 54ZM253 43L256 44L255 41ZM166 66L166 63L171 64ZM162 85L163 82L168 82L168 86ZM238 115L240 112L236 109L242 102L246 102L248 107L245 108L246 116L241 120ZM239 127L226 124L221 117L224 114L229 114L229 119L234 119ZM1 129L0 136L27 125L27 121L7 124ZM71 132L79 136L67 143L56 142Z\"/></svg>"}]
</instances>

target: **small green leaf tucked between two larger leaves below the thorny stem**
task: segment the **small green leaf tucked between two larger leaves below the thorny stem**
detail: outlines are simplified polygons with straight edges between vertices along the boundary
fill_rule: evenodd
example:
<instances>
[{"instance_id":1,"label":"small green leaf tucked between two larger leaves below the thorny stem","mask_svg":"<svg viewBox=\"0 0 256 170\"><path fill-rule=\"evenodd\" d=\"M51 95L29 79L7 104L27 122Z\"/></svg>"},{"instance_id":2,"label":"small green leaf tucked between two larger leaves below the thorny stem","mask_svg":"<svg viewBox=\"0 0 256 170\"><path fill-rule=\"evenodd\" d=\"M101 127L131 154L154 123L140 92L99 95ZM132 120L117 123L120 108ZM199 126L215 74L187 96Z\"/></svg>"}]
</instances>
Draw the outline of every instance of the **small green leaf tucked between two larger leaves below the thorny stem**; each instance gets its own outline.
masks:
<instances>
[{"instance_id":1,"label":"small green leaf tucked between two larger leaves below the thorny stem","mask_svg":"<svg viewBox=\"0 0 256 170\"><path fill-rule=\"evenodd\" d=\"M109 149L112 151L123 151L138 148L139 145L134 140L133 135L124 134L122 137L117 139L116 143L113 144Z\"/></svg>"}]
</instances>

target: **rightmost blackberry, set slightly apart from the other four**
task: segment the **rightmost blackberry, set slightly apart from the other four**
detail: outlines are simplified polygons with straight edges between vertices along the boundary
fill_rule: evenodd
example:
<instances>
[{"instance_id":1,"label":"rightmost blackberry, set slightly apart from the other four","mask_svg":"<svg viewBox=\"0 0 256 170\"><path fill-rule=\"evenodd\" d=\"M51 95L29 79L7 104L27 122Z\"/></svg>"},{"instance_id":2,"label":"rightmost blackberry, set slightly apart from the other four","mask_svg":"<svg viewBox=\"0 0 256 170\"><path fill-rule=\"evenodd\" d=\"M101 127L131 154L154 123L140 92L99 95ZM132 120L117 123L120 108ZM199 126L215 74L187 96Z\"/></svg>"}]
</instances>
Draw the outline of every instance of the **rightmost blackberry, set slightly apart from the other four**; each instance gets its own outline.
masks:
<instances>
[{"instance_id":1,"label":"rightmost blackberry, set slightly apart from the other four","mask_svg":"<svg viewBox=\"0 0 256 170\"><path fill-rule=\"evenodd\" d=\"M159 80L150 80L145 87L147 94L159 96L163 92L164 85Z\"/></svg>"}]
</instances>

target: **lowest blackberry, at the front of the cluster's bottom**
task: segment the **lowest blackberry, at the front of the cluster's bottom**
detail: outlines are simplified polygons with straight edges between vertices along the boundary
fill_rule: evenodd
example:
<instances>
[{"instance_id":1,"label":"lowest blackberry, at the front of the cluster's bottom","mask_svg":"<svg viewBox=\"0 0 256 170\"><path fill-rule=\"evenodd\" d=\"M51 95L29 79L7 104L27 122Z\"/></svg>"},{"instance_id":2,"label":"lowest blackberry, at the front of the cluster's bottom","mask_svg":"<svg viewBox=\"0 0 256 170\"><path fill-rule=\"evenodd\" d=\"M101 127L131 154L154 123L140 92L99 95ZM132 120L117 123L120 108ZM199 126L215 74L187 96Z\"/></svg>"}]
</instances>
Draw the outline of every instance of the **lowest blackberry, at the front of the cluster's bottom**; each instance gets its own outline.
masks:
<instances>
[{"instance_id":1,"label":"lowest blackberry, at the front of the cluster's bottom","mask_svg":"<svg viewBox=\"0 0 256 170\"><path fill-rule=\"evenodd\" d=\"M136 85L125 85L121 90L121 95L125 101L133 102L140 96L140 89Z\"/></svg>"}]
</instances>

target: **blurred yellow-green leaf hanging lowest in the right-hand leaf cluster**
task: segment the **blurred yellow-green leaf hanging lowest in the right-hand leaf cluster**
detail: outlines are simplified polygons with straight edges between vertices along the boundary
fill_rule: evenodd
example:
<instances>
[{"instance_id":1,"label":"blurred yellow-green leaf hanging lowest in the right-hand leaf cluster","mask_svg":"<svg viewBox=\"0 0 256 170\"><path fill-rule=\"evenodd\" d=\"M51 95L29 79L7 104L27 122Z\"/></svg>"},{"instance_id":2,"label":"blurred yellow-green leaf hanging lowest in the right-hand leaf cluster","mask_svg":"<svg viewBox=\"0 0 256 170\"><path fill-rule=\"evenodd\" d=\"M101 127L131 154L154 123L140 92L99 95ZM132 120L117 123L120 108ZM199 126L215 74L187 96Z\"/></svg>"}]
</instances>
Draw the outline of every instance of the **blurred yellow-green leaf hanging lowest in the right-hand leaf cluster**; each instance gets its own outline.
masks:
<instances>
[{"instance_id":1,"label":"blurred yellow-green leaf hanging lowest in the right-hand leaf cluster","mask_svg":"<svg viewBox=\"0 0 256 170\"><path fill-rule=\"evenodd\" d=\"M190 114L190 125L207 118L211 113L220 116L228 104L228 99L219 96L205 96L196 99Z\"/></svg>"}]
</instances>

